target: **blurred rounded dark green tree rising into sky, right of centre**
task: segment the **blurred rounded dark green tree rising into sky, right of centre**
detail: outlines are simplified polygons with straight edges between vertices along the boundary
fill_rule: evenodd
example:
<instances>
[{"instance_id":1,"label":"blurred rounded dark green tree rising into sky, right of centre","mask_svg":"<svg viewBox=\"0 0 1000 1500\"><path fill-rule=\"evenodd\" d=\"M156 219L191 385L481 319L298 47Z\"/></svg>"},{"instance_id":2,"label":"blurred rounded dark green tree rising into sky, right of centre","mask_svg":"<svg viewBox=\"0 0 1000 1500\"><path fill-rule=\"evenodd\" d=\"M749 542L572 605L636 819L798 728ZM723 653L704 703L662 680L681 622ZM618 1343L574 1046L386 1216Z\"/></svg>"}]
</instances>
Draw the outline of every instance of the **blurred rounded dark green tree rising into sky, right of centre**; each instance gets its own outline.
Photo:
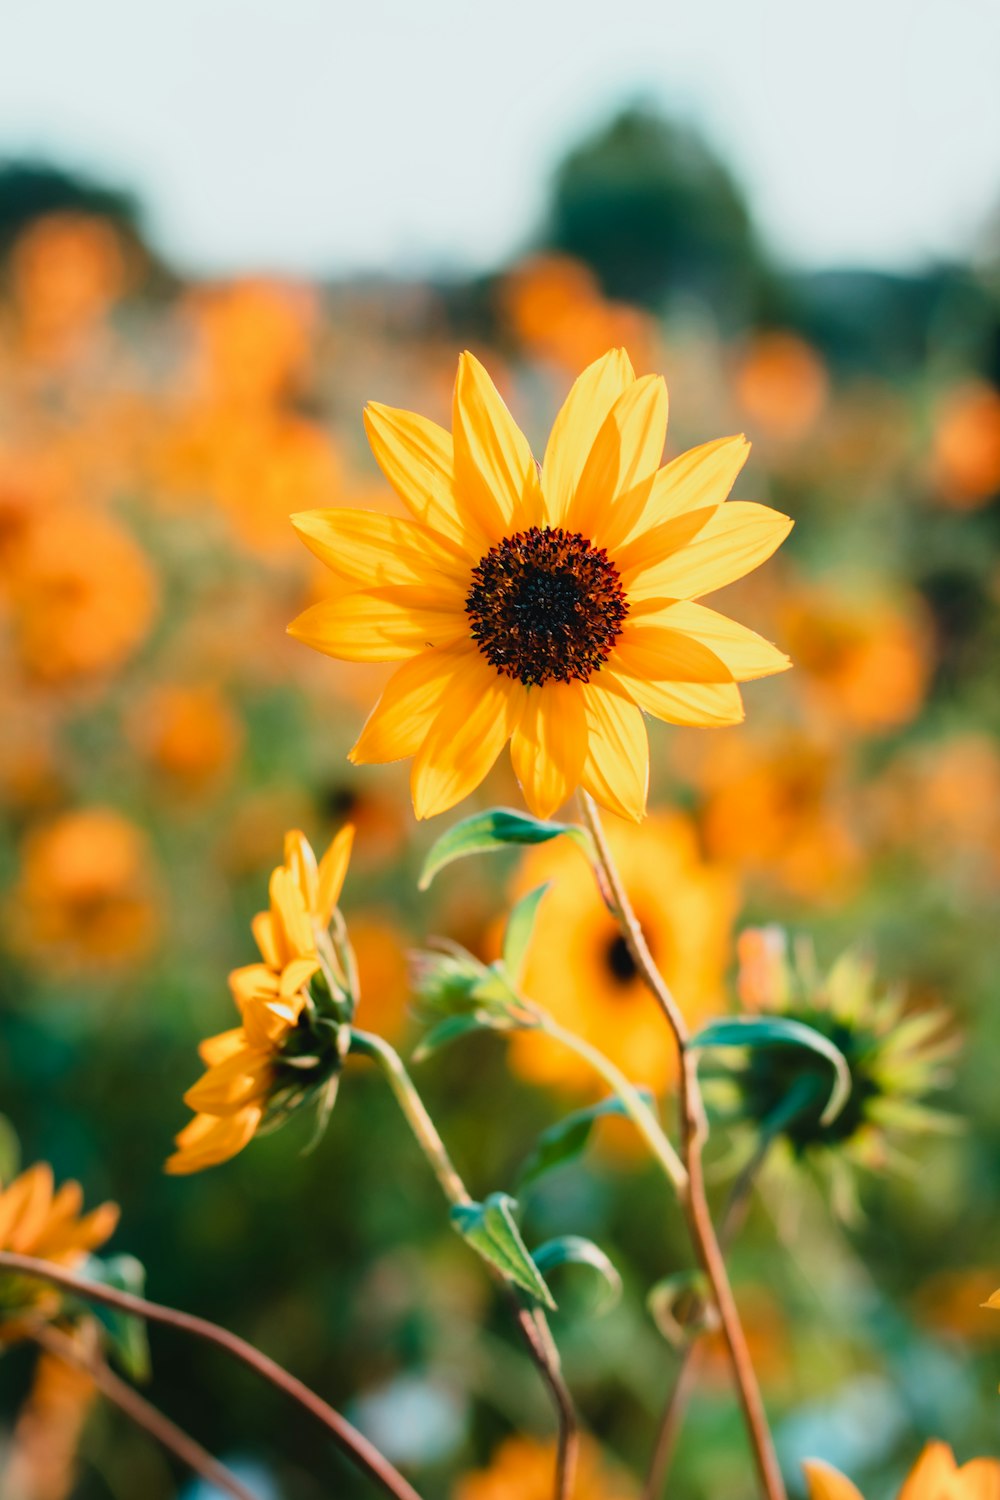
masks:
<instances>
[{"instance_id":1,"label":"blurred rounded dark green tree rising into sky, right of centre","mask_svg":"<svg viewBox=\"0 0 1000 1500\"><path fill-rule=\"evenodd\" d=\"M631 105L556 170L546 243L591 266L609 297L658 308L675 291L747 314L765 260L744 194L687 124Z\"/></svg>"}]
</instances>

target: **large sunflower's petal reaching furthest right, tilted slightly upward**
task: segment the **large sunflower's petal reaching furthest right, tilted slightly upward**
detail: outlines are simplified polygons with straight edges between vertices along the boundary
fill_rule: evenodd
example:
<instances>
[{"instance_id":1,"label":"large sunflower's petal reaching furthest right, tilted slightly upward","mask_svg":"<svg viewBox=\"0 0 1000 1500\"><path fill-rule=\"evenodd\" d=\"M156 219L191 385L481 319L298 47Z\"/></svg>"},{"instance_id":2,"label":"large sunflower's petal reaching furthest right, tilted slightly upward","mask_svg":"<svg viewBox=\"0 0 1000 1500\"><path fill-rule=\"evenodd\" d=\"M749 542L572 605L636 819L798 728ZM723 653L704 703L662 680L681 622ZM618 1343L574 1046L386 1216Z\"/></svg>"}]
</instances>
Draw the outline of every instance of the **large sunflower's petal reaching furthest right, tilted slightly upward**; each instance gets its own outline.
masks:
<instances>
[{"instance_id":1,"label":"large sunflower's petal reaching furthest right, tilted slightly upward","mask_svg":"<svg viewBox=\"0 0 1000 1500\"><path fill-rule=\"evenodd\" d=\"M730 500L720 506L697 537L672 556L636 573L631 600L697 598L753 572L781 546L792 530L789 516L768 506Z\"/></svg>"}]
</instances>

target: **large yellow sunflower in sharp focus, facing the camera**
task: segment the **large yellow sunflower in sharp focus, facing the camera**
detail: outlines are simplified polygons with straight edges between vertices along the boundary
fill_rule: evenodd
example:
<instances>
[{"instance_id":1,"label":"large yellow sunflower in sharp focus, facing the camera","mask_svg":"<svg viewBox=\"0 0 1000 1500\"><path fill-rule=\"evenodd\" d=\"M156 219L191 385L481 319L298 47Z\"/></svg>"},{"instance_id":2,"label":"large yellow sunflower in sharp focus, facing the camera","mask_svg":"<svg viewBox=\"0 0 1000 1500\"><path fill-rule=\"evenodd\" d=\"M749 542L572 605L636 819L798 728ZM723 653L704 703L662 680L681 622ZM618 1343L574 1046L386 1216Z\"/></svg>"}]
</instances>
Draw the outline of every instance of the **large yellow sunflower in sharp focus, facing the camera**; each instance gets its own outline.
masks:
<instances>
[{"instance_id":1,"label":"large yellow sunflower in sharp focus, facing the camera","mask_svg":"<svg viewBox=\"0 0 1000 1500\"><path fill-rule=\"evenodd\" d=\"M541 466L489 375L459 360L453 434L369 405L375 458L412 519L306 512L298 534L339 580L289 626L349 662L402 662L355 764L414 756L418 818L453 807L511 741L528 806L547 818L583 786L639 820L643 712L732 724L741 681L789 666L694 603L771 556L792 522L724 504L748 444L721 438L658 468L661 376L613 350L573 386Z\"/></svg>"}]
</instances>

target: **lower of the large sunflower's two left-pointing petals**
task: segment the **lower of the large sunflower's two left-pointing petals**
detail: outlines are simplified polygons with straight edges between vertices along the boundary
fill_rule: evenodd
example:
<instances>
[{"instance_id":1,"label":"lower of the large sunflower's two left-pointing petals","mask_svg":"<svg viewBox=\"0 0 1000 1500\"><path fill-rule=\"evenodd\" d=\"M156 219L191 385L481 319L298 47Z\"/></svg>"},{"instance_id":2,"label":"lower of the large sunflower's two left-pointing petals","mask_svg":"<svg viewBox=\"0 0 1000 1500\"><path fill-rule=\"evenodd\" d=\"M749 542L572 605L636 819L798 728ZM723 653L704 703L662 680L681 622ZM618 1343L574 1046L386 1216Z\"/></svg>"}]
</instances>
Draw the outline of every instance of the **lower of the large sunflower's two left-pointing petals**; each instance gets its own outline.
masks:
<instances>
[{"instance_id":1,"label":"lower of the large sunflower's two left-pointing petals","mask_svg":"<svg viewBox=\"0 0 1000 1500\"><path fill-rule=\"evenodd\" d=\"M402 662L468 634L465 597L451 608L427 603L423 588L361 590L324 598L292 620L288 634L343 662Z\"/></svg>"}]
</instances>

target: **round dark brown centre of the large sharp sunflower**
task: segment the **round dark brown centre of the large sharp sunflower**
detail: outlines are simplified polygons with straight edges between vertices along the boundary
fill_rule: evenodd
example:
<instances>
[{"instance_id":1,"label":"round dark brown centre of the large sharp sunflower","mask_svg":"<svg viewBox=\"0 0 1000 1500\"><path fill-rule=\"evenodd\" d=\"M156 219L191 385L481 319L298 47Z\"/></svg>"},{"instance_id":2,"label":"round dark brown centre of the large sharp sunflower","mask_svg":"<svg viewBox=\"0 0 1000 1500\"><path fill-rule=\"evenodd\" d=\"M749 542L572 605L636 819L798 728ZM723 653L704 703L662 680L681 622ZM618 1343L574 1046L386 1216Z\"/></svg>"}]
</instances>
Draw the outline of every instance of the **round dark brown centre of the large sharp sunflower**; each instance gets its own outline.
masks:
<instances>
[{"instance_id":1,"label":"round dark brown centre of the large sharp sunflower","mask_svg":"<svg viewBox=\"0 0 1000 1500\"><path fill-rule=\"evenodd\" d=\"M465 610L490 666L540 687L586 682L607 662L628 604L603 548L561 526L529 526L480 558Z\"/></svg>"}]
</instances>

